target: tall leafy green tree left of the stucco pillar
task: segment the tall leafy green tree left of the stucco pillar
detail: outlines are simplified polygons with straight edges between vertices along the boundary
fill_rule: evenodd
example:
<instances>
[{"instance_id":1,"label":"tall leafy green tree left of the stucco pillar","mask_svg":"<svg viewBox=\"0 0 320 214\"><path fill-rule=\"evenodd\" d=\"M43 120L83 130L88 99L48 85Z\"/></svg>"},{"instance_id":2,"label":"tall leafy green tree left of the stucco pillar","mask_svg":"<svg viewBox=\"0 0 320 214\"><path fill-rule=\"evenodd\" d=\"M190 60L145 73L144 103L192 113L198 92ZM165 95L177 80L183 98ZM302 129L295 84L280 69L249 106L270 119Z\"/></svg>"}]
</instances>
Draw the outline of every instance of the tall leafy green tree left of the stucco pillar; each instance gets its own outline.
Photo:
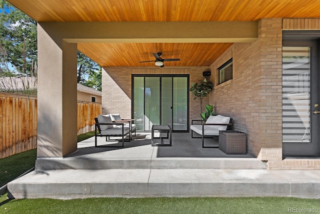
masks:
<instances>
[{"instance_id":1,"label":"tall leafy green tree left of the stucco pillar","mask_svg":"<svg viewBox=\"0 0 320 214\"><path fill-rule=\"evenodd\" d=\"M35 76L37 63L36 22L8 2L0 0L0 51L2 70L8 63L23 76ZM3 69L4 68L4 69Z\"/></svg>"}]
</instances>

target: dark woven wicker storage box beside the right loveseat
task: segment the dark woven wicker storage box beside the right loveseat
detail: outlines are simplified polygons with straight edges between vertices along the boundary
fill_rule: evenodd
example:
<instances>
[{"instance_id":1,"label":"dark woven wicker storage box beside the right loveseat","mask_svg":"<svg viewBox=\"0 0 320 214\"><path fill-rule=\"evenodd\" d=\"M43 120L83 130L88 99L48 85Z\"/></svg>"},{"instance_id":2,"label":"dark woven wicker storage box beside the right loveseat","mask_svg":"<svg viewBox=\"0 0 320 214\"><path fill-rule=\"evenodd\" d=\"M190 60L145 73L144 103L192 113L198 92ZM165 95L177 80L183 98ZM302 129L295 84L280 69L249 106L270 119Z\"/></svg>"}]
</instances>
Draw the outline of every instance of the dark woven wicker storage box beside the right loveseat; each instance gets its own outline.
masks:
<instances>
[{"instance_id":1,"label":"dark woven wicker storage box beside the right loveseat","mask_svg":"<svg viewBox=\"0 0 320 214\"><path fill-rule=\"evenodd\" d=\"M246 154L246 134L239 131L219 131L219 149L226 154Z\"/></svg>"}]
</instances>

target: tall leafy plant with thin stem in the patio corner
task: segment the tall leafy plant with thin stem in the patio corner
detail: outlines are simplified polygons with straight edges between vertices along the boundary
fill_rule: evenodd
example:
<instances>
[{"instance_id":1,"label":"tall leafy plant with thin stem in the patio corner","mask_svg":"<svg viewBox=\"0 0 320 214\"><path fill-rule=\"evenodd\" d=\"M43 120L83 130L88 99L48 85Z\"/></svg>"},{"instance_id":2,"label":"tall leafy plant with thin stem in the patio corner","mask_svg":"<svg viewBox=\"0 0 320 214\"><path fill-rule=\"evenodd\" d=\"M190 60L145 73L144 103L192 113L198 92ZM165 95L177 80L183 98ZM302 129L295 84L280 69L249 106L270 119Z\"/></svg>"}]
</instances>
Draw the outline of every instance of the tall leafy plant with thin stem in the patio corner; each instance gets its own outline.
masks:
<instances>
[{"instance_id":1,"label":"tall leafy plant with thin stem in the patio corner","mask_svg":"<svg viewBox=\"0 0 320 214\"><path fill-rule=\"evenodd\" d=\"M200 113L202 112L202 99L207 97L208 93L212 91L213 84L204 78L203 81L199 80L198 83L191 83L190 92L194 96L193 100L198 98L200 100Z\"/></svg>"}]
</instances>

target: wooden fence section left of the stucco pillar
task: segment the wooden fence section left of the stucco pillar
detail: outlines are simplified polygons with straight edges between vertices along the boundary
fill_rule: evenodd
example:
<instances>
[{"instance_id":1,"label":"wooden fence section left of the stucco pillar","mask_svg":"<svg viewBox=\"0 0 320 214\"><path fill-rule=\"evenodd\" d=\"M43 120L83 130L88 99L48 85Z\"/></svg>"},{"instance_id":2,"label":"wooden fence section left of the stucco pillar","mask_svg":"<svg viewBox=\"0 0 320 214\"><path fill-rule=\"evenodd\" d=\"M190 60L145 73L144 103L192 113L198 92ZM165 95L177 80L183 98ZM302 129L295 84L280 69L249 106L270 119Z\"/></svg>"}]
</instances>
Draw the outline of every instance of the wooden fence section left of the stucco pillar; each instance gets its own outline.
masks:
<instances>
[{"instance_id":1,"label":"wooden fence section left of the stucco pillar","mask_svg":"<svg viewBox=\"0 0 320 214\"><path fill-rule=\"evenodd\" d=\"M36 148L36 96L0 93L0 158Z\"/></svg>"}]
</instances>

